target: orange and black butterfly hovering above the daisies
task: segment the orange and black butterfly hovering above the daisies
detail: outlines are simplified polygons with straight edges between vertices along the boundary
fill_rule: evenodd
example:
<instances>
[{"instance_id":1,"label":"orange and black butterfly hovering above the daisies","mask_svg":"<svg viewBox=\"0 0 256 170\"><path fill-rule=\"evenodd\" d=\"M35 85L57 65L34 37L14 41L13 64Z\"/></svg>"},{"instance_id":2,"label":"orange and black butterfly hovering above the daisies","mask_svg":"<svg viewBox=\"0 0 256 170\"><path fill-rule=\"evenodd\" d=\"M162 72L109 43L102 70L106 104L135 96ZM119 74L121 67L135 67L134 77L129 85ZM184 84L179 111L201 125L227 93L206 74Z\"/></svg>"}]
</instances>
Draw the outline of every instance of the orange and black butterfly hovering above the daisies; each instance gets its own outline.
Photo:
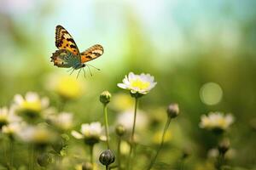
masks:
<instances>
[{"instance_id":1,"label":"orange and black butterfly hovering above the daisies","mask_svg":"<svg viewBox=\"0 0 256 170\"><path fill-rule=\"evenodd\" d=\"M86 62L100 57L104 52L102 46L100 44L96 44L80 53L76 42L73 40L73 37L63 26L56 26L55 46L58 48L58 50L52 54L50 61L58 67L72 68L71 70L73 71L80 69L79 73L81 69L86 66ZM79 74L77 77L79 77Z\"/></svg>"}]
</instances>

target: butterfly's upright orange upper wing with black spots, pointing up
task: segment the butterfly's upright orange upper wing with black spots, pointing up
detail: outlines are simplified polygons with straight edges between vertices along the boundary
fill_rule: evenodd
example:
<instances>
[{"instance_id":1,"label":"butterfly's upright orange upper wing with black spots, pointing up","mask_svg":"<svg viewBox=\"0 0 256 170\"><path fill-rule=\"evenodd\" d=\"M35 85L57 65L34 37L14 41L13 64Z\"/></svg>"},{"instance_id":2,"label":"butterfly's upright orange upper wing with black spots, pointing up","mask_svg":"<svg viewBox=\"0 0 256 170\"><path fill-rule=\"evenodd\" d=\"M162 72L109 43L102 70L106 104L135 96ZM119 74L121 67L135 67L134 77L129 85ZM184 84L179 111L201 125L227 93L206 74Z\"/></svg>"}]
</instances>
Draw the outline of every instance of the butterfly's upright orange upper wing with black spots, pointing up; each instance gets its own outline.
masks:
<instances>
[{"instance_id":1,"label":"butterfly's upright orange upper wing with black spots, pointing up","mask_svg":"<svg viewBox=\"0 0 256 170\"><path fill-rule=\"evenodd\" d=\"M79 48L76 42L63 26L56 26L55 46L59 49L67 49L74 55L79 55Z\"/></svg>"}]
</instances>

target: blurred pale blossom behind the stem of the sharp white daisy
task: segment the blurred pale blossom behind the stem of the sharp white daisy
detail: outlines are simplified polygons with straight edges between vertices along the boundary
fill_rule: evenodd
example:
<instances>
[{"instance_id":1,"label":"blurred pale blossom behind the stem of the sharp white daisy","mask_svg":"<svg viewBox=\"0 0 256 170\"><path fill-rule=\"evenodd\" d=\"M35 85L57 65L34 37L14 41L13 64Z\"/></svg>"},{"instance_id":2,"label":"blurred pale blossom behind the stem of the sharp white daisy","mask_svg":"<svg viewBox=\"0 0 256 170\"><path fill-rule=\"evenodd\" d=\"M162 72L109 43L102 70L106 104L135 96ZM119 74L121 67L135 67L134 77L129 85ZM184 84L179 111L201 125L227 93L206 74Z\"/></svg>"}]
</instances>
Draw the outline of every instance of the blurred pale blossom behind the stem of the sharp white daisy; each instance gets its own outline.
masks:
<instances>
[{"instance_id":1,"label":"blurred pale blossom behind the stem of the sharp white daisy","mask_svg":"<svg viewBox=\"0 0 256 170\"><path fill-rule=\"evenodd\" d=\"M133 110L127 110L122 113L119 113L117 117L116 124L123 125L126 129L131 130L133 126L133 118L134 118L134 111ZM148 116L143 111L138 110L137 111L137 117L136 117L136 127L138 130L141 130L148 125Z\"/></svg>"}]
</instances>

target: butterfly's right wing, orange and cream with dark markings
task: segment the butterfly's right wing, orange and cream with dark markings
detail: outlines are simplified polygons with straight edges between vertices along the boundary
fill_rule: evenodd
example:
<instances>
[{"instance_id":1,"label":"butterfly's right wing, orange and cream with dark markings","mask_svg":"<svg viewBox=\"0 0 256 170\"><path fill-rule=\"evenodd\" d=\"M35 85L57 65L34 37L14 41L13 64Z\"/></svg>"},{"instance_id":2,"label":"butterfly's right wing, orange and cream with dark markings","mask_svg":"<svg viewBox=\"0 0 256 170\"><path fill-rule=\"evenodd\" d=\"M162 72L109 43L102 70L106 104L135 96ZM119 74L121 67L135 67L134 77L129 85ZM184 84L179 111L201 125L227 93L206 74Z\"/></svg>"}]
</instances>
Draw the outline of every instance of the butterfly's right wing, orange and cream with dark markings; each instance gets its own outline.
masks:
<instances>
[{"instance_id":1,"label":"butterfly's right wing, orange and cream with dark markings","mask_svg":"<svg viewBox=\"0 0 256 170\"><path fill-rule=\"evenodd\" d=\"M86 49L83 53L80 54L81 62L85 63L92 59L96 59L100 57L104 53L104 49L101 45L96 44L91 46L90 48Z\"/></svg>"}]
</instances>

